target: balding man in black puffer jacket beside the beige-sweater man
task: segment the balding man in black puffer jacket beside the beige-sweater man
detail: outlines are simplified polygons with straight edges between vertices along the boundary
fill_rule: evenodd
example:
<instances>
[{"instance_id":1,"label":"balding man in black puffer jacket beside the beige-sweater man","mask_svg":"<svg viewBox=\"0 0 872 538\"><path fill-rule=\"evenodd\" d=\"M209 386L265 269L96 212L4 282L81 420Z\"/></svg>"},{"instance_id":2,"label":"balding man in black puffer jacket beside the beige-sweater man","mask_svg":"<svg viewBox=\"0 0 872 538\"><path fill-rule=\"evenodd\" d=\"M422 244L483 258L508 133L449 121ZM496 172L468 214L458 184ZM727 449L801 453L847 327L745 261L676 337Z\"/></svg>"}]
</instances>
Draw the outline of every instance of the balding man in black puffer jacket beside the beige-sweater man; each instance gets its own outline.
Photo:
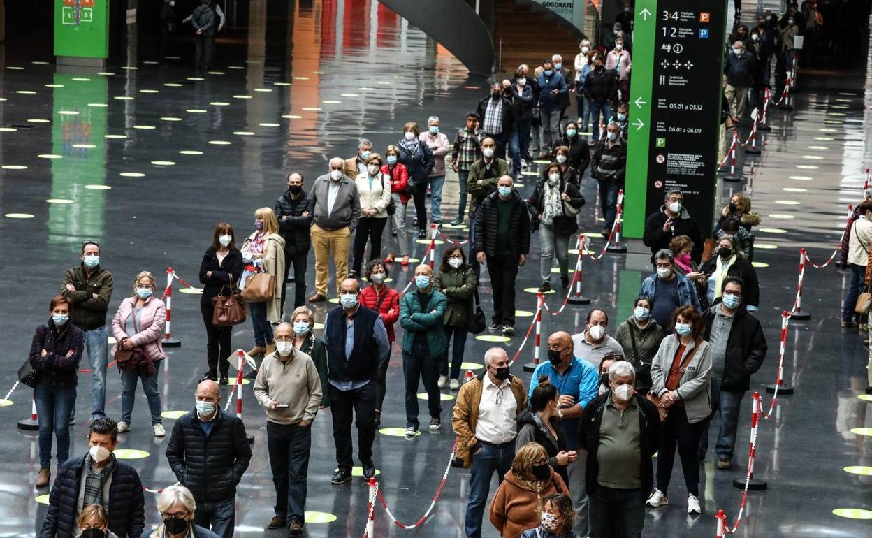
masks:
<instances>
[{"instance_id":1,"label":"balding man in black puffer jacket beside the beige-sweater man","mask_svg":"<svg viewBox=\"0 0 872 538\"><path fill-rule=\"evenodd\" d=\"M236 485L249 468L251 446L242 419L221 411L215 381L201 381L193 412L176 420L167 460L179 483L191 490L194 524L219 538L233 536Z\"/></svg>"}]
</instances>

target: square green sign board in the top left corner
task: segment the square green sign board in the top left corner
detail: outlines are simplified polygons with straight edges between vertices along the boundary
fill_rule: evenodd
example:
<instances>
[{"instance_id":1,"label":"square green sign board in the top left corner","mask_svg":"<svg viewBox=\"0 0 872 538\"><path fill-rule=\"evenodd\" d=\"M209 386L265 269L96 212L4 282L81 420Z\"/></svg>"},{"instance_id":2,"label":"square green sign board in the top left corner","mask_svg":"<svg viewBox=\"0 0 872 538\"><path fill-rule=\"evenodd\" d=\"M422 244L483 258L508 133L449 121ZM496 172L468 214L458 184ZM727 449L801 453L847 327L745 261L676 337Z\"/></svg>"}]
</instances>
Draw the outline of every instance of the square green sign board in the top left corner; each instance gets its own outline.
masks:
<instances>
[{"instance_id":1,"label":"square green sign board in the top left corner","mask_svg":"<svg viewBox=\"0 0 872 538\"><path fill-rule=\"evenodd\" d=\"M55 56L108 58L109 0L54 0Z\"/></svg>"}]
</instances>

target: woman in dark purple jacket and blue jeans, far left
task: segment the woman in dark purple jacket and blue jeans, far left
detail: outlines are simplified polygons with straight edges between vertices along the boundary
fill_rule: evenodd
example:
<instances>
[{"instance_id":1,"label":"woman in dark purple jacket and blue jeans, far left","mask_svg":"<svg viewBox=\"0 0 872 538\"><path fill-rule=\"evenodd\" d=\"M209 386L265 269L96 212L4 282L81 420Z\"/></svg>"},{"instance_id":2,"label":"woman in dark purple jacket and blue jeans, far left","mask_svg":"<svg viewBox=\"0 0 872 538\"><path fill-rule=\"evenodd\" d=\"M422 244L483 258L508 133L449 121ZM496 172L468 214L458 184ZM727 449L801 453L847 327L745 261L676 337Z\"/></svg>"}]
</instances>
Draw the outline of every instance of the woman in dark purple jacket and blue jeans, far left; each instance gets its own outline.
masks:
<instances>
[{"instance_id":1,"label":"woman in dark purple jacket and blue jeans, far left","mask_svg":"<svg viewBox=\"0 0 872 538\"><path fill-rule=\"evenodd\" d=\"M55 296L49 304L49 319L37 325L28 360L37 371L33 401L39 420L39 474L36 487L46 487L51 478L51 435L58 438L58 466L70 457L70 415L76 406L78 363L82 360L85 334L70 323L70 300ZM52 420L52 418L54 418Z\"/></svg>"}]
</instances>

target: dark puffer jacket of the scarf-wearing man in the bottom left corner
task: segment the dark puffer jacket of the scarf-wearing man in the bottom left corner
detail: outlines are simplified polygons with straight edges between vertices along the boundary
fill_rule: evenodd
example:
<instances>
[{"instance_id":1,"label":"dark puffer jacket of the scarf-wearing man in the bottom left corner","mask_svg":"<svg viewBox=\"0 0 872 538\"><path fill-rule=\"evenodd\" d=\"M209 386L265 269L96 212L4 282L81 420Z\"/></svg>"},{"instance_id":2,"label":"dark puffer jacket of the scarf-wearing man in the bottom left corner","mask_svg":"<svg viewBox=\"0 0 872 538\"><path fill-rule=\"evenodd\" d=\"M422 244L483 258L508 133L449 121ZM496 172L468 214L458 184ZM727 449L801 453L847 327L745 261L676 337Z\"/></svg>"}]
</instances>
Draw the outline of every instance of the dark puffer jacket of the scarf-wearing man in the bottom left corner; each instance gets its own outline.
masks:
<instances>
[{"instance_id":1,"label":"dark puffer jacket of the scarf-wearing man in the bottom left corner","mask_svg":"<svg viewBox=\"0 0 872 538\"><path fill-rule=\"evenodd\" d=\"M88 457L66 460L58 470L39 538L72 538L76 530L78 486ZM115 460L109 486L109 530L118 538L140 538L145 528L144 503L139 473L123 461Z\"/></svg>"}]
</instances>

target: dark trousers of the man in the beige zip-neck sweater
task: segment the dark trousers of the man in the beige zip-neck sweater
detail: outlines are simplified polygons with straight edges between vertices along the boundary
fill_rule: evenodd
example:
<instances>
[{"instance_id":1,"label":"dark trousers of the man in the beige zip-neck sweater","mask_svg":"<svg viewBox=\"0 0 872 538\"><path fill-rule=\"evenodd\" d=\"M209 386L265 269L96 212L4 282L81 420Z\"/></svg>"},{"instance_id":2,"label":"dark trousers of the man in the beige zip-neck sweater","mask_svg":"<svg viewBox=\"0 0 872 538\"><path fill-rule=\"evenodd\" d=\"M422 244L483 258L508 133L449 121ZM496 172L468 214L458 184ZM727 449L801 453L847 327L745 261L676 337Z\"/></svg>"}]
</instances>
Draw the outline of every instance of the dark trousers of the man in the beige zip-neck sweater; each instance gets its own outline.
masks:
<instances>
[{"instance_id":1,"label":"dark trousers of the man in the beige zip-neck sweater","mask_svg":"<svg viewBox=\"0 0 872 538\"><path fill-rule=\"evenodd\" d=\"M288 525L292 520L304 521L311 447L311 426L267 422L267 450L276 487L276 515L285 518Z\"/></svg>"}]
</instances>

